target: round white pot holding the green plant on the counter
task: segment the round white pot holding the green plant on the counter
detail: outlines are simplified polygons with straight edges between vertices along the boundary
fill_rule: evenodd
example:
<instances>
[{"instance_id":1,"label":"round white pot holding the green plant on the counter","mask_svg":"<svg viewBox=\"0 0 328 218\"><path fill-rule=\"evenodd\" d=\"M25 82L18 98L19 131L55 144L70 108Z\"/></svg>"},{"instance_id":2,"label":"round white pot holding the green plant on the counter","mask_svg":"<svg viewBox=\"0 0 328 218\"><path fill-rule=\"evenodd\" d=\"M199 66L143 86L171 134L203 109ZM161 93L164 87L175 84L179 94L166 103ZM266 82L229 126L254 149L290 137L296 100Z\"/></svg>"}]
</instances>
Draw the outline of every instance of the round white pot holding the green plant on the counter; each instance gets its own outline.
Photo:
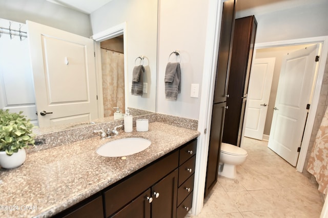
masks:
<instances>
[{"instance_id":1,"label":"round white pot holding the green plant on the counter","mask_svg":"<svg viewBox=\"0 0 328 218\"><path fill-rule=\"evenodd\" d=\"M22 165L26 160L26 152L19 149L17 153L7 155L6 152L0 152L0 166L6 169L16 168Z\"/></svg>"}]
</instances>

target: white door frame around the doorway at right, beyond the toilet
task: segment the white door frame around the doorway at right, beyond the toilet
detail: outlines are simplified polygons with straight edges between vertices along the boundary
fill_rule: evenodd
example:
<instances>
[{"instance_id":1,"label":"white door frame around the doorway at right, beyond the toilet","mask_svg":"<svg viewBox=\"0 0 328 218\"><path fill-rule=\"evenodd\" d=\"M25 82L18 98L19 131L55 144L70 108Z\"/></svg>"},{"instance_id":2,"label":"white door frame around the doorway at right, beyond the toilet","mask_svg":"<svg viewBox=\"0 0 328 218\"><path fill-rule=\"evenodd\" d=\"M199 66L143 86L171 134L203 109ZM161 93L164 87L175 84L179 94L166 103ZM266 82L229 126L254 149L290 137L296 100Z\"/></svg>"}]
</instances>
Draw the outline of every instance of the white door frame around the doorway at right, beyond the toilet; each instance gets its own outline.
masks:
<instances>
[{"instance_id":1,"label":"white door frame around the doorway at right, beyond the toilet","mask_svg":"<svg viewBox=\"0 0 328 218\"><path fill-rule=\"evenodd\" d=\"M328 53L328 36L291 39L291 40L282 40L282 41L274 41L274 42L263 42L263 43L255 43L254 45L253 59L256 57L257 49L266 49L270 47L290 46L290 45L300 45L300 44L313 44L313 43L321 43L321 48L319 51L320 60L317 68L317 76L314 81L311 108L309 110L308 120L304 128L303 141L301 143L301 150L296 165L296 170L300 173L303 172L306 153L308 152L309 149L309 143L310 143L313 125L315 121L315 115L318 108L320 91L323 81L323 74L324 74L325 64L327 60L327 53Z\"/></svg>"}]
</instances>

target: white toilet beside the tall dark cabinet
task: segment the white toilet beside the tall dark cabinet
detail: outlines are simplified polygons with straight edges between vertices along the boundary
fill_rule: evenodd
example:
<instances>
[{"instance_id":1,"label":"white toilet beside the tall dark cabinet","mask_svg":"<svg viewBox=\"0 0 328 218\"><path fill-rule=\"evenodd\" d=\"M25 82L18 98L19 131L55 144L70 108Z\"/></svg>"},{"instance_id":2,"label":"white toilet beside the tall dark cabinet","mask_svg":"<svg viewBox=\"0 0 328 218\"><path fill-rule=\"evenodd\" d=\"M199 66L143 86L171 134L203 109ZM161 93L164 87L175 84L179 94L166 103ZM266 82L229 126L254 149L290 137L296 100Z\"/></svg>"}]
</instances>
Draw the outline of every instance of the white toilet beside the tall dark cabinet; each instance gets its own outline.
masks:
<instances>
[{"instance_id":1,"label":"white toilet beside the tall dark cabinet","mask_svg":"<svg viewBox=\"0 0 328 218\"><path fill-rule=\"evenodd\" d=\"M228 143L221 143L219 175L235 179L236 165L242 164L247 158L247 151Z\"/></svg>"}]
</instances>

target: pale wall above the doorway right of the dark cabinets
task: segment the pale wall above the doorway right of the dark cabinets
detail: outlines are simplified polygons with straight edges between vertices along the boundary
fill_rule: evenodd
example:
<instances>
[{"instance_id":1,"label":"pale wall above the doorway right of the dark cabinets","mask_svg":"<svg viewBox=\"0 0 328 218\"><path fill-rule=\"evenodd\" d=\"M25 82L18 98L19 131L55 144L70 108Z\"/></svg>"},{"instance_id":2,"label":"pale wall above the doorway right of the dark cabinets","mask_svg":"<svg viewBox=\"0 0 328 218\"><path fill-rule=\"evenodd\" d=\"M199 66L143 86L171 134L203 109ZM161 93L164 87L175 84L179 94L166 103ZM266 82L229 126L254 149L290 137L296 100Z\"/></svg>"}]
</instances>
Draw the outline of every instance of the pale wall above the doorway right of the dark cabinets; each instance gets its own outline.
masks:
<instances>
[{"instance_id":1,"label":"pale wall above the doorway right of the dark cabinets","mask_svg":"<svg viewBox=\"0 0 328 218\"><path fill-rule=\"evenodd\" d=\"M258 22L255 43L328 35L328 1L307 1L306 5L301 0L289 2L238 11L236 17L255 15ZM270 8L278 11L270 12Z\"/></svg>"}]
</instances>

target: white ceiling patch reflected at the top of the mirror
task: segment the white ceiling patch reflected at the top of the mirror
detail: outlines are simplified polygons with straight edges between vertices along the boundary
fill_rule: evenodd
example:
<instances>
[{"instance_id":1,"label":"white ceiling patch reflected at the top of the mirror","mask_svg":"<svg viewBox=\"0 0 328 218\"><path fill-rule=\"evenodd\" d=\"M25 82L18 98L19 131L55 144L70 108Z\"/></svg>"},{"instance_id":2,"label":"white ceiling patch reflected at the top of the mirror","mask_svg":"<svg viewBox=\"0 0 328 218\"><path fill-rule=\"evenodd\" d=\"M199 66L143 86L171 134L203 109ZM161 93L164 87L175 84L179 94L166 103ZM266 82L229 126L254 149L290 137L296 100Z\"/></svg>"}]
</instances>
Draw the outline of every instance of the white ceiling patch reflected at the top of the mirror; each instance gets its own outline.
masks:
<instances>
[{"instance_id":1,"label":"white ceiling patch reflected at the top of the mirror","mask_svg":"<svg viewBox=\"0 0 328 218\"><path fill-rule=\"evenodd\" d=\"M80 11L86 14L91 14L98 8L103 7L112 0L47 0L48 2L55 3L57 5L72 8L76 11Z\"/></svg>"}]
</instances>

